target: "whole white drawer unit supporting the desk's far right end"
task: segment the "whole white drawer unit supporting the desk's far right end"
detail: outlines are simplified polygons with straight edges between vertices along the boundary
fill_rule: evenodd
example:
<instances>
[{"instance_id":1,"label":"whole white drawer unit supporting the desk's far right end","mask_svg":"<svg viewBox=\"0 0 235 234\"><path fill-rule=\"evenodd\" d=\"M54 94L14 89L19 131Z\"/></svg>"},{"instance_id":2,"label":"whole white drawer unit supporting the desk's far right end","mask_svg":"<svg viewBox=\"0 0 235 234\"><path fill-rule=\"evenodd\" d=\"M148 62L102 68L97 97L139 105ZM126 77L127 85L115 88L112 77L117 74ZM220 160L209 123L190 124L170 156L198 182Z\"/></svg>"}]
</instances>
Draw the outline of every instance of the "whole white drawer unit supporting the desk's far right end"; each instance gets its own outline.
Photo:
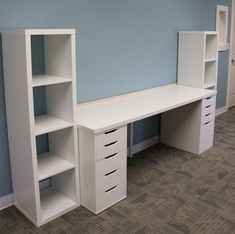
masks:
<instances>
[{"instance_id":1,"label":"whole white drawer unit supporting the desk's far right end","mask_svg":"<svg viewBox=\"0 0 235 234\"><path fill-rule=\"evenodd\" d=\"M201 154L213 146L216 96L162 114L161 142ZM180 127L179 127L180 126Z\"/></svg>"}]
</instances>

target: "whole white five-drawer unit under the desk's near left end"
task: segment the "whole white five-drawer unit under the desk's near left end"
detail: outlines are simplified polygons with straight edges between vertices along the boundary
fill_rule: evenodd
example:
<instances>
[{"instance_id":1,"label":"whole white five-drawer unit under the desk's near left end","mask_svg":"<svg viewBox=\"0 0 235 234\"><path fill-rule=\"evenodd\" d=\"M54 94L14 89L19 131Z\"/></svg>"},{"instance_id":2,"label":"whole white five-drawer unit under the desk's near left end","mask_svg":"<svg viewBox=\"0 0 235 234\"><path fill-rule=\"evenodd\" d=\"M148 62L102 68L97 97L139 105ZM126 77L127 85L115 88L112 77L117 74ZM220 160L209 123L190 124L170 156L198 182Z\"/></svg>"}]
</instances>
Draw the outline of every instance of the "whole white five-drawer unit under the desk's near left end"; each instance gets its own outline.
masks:
<instances>
[{"instance_id":1,"label":"whole white five-drawer unit under the desk's near left end","mask_svg":"<svg viewBox=\"0 0 235 234\"><path fill-rule=\"evenodd\" d=\"M126 197L127 126L79 130L81 205L95 214Z\"/></svg>"}]
</instances>

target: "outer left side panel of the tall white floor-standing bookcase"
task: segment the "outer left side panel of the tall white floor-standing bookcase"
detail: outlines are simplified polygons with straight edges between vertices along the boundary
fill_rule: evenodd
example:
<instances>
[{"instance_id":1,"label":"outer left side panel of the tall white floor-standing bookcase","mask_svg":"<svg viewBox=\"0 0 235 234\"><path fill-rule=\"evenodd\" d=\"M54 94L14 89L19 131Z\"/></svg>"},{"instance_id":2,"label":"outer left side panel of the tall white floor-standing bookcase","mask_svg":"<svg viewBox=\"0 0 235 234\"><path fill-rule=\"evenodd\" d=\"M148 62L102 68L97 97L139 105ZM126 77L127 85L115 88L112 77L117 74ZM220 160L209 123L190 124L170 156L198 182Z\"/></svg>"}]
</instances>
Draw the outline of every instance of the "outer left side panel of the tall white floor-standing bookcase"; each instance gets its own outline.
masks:
<instances>
[{"instance_id":1,"label":"outer left side panel of the tall white floor-standing bookcase","mask_svg":"<svg viewBox=\"0 0 235 234\"><path fill-rule=\"evenodd\" d=\"M32 88L28 62L30 38L3 33L4 84L14 203L34 223L39 212Z\"/></svg>"}]
</instances>

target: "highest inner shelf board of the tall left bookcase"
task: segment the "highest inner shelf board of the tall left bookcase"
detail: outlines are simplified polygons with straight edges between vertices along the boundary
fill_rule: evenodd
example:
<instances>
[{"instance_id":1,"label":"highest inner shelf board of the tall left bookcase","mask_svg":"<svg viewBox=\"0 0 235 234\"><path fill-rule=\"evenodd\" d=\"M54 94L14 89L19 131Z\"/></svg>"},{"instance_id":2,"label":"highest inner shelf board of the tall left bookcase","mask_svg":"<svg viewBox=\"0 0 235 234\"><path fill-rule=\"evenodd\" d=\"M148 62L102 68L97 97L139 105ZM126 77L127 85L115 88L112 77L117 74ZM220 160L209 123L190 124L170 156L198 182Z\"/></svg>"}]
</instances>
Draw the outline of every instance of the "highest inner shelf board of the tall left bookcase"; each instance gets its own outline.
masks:
<instances>
[{"instance_id":1,"label":"highest inner shelf board of the tall left bookcase","mask_svg":"<svg viewBox=\"0 0 235 234\"><path fill-rule=\"evenodd\" d=\"M51 75L37 75L33 76L33 87L39 87L44 85L53 85L72 82L71 78L60 77L60 76L51 76Z\"/></svg>"}]
</instances>

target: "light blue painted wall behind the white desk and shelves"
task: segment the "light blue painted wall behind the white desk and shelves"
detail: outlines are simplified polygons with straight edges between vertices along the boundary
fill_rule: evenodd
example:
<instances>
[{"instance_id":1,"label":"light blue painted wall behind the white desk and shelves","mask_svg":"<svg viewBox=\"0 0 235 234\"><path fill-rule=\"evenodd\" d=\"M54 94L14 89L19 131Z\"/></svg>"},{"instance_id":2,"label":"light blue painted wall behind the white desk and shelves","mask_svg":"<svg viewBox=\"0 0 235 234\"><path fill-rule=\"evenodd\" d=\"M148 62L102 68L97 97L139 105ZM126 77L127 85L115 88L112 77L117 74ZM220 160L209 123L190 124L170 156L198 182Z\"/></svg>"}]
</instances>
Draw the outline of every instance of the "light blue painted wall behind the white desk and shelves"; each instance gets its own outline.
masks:
<instances>
[{"instance_id":1,"label":"light blue painted wall behind the white desk and shelves","mask_svg":"<svg viewBox=\"0 0 235 234\"><path fill-rule=\"evenodd\" d=\"M76 28L78 102L85 102L175 82L177 31L214 30L217 3L231 0L0 0L0 28ZM0 197L11 192L1 60ZM218 107L227 65L224 52ZM157 133L154 118L135 123L135 143Z\"/></svg>"}]
</instances>

